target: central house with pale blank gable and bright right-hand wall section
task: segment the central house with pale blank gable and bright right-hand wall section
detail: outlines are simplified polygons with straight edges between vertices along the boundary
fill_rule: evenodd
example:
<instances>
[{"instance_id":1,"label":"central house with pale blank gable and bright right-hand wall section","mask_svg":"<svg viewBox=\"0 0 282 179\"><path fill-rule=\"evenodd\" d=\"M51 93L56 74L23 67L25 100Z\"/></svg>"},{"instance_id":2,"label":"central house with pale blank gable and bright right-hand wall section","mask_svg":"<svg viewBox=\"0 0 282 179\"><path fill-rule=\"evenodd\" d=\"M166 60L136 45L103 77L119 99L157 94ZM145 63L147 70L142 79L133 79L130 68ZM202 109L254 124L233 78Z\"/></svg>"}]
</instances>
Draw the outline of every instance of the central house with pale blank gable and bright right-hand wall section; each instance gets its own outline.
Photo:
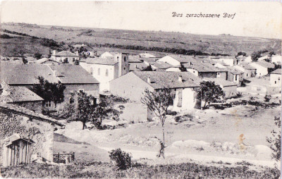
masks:
<instances>
[{"instance_id":1,"label":"central house with pale blank gable and bright right-hand wall section","mask_svg":"<svg viewBox=\"0 0 282 179\"><path fill-rule=\"evenodd\" d=\"M110 81L111 93L140 102L146 89L158 91L170 88L173 95L173 111L194 109L197 100L195 91L200 87L200 78L187 72L135 71Z\"/></svg>"}]
</instances>

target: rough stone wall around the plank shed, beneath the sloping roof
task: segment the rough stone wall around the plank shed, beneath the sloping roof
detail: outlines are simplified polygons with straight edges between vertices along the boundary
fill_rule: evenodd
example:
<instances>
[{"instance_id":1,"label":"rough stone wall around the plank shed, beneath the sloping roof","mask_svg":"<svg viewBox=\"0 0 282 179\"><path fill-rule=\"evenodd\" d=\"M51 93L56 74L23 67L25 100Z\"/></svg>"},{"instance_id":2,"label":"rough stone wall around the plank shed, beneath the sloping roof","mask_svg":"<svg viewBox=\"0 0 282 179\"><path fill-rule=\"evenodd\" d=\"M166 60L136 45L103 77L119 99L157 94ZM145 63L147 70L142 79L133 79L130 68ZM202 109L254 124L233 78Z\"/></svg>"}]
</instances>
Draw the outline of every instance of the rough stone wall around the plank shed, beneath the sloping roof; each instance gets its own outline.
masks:
<instances>
[{"instance_id":1,"label":"rough stone wall around the plank shed, beneath the sloping roof","mask_svg":"<svg viewBox=\"0 0 282 179\"><path fill-rule=\"evenodd\" d=\"M35 142L32 144L31 154L42 156L48 161L53 161L54 126L50 123L38 121L25 116L3 111L0 109L0 164L3 160L6 137L18 133L24 137L30 137Z\"/></svg>"}]
</instances>

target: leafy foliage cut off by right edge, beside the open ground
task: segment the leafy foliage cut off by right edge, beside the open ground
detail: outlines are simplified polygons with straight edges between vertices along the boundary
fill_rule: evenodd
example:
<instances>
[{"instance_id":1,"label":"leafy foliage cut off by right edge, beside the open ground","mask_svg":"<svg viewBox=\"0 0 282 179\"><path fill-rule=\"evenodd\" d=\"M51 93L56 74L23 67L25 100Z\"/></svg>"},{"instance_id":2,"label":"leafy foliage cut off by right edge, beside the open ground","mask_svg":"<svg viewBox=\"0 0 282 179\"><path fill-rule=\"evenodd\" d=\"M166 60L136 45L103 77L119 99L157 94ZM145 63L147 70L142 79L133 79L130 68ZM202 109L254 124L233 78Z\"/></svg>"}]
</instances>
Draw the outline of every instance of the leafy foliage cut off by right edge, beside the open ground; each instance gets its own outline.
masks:
<instances>
[{"instance_id":1,"label":"leafy foliage cut off by right edge, beside the open ground","mask_svg":"<svg viewBox=\"0 0 282 179\"><path fill-rule=\"evenodd\" d=\"M271 131L272 137L266 137L266 141L271 144L273 151L272 158L276 161L281 159L281 120L280 117L274 117L274 123L277 126L276 130Z\"/></svg>"}]
</instances>

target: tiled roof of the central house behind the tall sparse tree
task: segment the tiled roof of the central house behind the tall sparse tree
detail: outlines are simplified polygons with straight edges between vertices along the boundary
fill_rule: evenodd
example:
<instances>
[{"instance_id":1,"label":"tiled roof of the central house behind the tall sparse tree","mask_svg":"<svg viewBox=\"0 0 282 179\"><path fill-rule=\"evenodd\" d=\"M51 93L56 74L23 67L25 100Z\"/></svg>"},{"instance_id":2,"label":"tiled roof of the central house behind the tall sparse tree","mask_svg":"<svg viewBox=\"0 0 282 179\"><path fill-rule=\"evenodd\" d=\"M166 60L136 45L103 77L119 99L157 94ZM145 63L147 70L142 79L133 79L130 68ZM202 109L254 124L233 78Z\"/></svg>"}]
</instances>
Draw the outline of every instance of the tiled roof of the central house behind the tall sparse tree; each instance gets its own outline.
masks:
<instances>
[{"instance_id":1,"label":"tiled roof of the central house behind the tall sparse tree","mask_svg":"<svg viewBox=\"0 0 282 179\"><path fill-rule=\"evenodd\" d=\"M131 73L134 73L145 82L147 82L147 79L150 78L151 83L149 83L149 85L154 87L154 89L161 89L163 87L199 87L200 85L200 78L189 72L135 71ZM183 82L178 81L179 76L181 76Z\"/></svg>"}]
</instances>

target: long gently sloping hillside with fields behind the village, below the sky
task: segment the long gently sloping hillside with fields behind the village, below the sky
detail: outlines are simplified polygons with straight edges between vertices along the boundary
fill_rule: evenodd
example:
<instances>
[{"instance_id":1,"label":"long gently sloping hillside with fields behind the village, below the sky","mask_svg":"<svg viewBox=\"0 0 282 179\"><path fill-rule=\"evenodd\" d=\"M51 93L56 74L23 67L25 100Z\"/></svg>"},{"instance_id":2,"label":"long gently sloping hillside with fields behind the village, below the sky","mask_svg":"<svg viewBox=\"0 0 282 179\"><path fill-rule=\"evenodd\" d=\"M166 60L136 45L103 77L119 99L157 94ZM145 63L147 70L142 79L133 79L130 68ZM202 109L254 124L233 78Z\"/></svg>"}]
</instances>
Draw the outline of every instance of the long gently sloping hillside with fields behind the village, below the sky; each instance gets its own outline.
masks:
<instances>
[{"instance_id":1,"label":"long gently sloping hillside with fields behind the village, below the sky","mask_svg":"<svg viewBox=\"0 0 282 179\"><path fill-rule=\"evenodd\" d=\"M53 39L56 42L66 44L85 43L94 47L122 47L128 49L131 46L135 49L154 50L154 48L173 48L202 51L207 54L230 54L235 55L238 51L245 51L251 54L253 51L269 50L281 53L281 39L265 39L260 37L235 37L232 35L193 35L181 32L152 32L135 30L109 30L85 27L59 27L47 25L30 25L25 23L4 23L1 24L1 31L9 30L20 32L31 37ZM1 39L1 54L13 53L12 49L20 49L30 53L35 50L41 54L49 53L50 47L38 44L38 40ZM15 40L16 39L16 40ZM62 44L62 43L61 43ZM25 48L23 46L31 46ZM130 47L130 48L131 48ZM154 47L154 48L152 48Z\"/></svg>"}]
</instances>

